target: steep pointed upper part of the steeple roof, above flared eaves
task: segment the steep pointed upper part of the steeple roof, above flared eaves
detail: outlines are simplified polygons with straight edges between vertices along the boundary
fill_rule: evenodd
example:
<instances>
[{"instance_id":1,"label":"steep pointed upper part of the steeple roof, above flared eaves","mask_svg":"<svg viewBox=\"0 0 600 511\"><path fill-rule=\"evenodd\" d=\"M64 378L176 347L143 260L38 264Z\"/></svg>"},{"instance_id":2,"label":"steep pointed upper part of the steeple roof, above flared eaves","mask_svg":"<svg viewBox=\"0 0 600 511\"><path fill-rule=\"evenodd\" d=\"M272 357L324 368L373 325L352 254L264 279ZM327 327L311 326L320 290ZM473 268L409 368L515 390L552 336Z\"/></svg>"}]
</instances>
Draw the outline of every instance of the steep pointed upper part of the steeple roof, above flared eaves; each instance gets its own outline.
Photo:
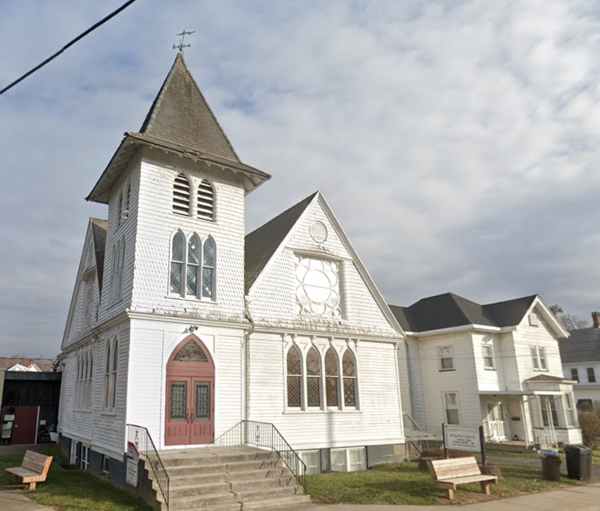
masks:
<instances>
[{"instance_id":1,"label":"steep pointed upper part of the steeple roof, above flared eaves","mask_svg":"<svg viewBox=\"0 0 600 511\"><path fill-rule=\"evenodd\" d=\"M178 53L140 133L239 162L196 80Z\"/></svg>"}]
</instances>

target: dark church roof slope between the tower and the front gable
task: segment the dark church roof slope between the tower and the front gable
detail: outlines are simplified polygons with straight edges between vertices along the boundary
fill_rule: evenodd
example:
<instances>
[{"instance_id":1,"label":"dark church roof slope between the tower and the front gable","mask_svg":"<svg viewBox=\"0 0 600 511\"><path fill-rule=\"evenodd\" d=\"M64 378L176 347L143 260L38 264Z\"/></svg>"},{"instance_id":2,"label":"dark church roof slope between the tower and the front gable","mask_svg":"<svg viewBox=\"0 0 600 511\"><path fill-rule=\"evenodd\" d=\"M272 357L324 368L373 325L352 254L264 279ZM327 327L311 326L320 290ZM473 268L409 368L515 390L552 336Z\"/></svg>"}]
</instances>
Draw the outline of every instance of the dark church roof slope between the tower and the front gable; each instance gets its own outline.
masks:
<instances>
[{"instance_id":1,"label":"dark church roof slope between the tower and the front gable","mask_svg":"<svg viewBox=\"0 0 600 511\"><path fill-rule=\"evenodd\" d=\"M298 219L319 192L313 193L293 205L289 210L269 220L265 225L246 235L245 239L245 292L248 294L254 281L265 268L281 242L298 222Z\"/></svg>"}]
</instances>

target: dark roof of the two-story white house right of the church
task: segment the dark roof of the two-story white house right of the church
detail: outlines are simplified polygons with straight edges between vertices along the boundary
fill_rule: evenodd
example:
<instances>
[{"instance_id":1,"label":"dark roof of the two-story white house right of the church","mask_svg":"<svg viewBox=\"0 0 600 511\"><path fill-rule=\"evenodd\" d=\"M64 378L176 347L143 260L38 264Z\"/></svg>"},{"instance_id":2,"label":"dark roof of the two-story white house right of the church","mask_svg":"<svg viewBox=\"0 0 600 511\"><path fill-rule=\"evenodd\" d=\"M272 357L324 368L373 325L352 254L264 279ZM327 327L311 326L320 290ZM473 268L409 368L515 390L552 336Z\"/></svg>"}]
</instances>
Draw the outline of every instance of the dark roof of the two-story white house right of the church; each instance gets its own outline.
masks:
<instances>
[{"instance_id":1,"label":"dark roof of the two-story white house right of the church","mask_svg":"<svg viewBox=\"0 0 600 511\"><path fill-rule=\"evenodd\" d=\"M515 326L538 295L480 305L454 293L422 298L410 307L389 306L405 331L422 332L463 325Z\"/></svg>"}]
</instances>

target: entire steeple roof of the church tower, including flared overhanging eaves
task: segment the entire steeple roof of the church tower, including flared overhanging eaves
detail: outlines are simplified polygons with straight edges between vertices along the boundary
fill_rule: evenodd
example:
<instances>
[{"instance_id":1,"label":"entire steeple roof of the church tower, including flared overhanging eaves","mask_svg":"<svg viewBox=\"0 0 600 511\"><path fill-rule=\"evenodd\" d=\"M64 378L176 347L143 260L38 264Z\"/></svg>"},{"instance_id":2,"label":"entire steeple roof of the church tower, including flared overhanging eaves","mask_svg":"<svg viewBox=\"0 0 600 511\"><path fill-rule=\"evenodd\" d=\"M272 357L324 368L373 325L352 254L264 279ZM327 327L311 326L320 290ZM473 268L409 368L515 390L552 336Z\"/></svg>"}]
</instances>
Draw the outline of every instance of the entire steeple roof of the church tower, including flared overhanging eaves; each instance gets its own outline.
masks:
<instances>
[{"instance_id":1,"label":"entire steeple roof of the church tower, including flared overhanging eaves","mask_svg":"<svg viewBox=\"0 0 600 511\"><path fill-rule=\"evenodd\" d=\"M246 193L271 179L266 172L241 162L181 53L175 57L140 132L125 133L86 200L108 204L110 190L142 147L239 172Z\"/></svg>"}]
</instances>

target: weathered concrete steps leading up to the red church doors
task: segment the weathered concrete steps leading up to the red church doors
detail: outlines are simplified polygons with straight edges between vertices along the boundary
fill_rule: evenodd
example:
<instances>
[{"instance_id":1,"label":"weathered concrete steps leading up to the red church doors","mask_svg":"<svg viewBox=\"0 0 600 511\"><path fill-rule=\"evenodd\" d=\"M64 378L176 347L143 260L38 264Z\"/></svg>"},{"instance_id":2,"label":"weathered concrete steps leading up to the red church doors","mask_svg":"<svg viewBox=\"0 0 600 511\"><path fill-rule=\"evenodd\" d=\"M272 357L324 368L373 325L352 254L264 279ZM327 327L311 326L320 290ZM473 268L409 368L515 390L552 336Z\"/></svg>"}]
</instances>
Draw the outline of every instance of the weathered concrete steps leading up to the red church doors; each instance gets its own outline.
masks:
<instances>
[{"instance_id":1,"label":"weathered concrete steps leading up to the red church doors","mask_svg":"<svg viewBox=\"0 0 600 511\"><path fill-rule=\"evenodd\" d=\"M204 447L164 450L160 457L169 474L171 511L245 511L310 501L271 451ZM154 487L160 494L156 482Z\"/></svg>"}]
</instances>

